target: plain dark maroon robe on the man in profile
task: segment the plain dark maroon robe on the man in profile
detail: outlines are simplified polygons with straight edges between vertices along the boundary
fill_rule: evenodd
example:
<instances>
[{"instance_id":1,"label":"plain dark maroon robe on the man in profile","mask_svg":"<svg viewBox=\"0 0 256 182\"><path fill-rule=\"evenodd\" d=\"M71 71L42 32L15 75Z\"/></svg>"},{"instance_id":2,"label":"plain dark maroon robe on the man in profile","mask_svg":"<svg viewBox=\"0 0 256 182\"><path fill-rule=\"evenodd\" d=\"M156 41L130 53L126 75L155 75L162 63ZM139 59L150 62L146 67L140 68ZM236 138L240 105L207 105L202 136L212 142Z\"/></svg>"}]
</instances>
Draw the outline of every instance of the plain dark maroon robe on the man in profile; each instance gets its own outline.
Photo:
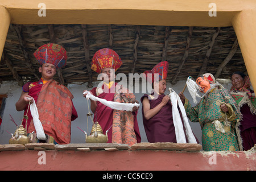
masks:
<instances>
[{"instance_id":1,"label":"plain dark maroon robe on the man in profile","mask_svg":"<svg viewBox=\"0 0 256 182\"><path fill-rule=\"evenodd\" d=\"M158 106L162 100L163 97L166 96L164 94L161 94L158 96L158 98L154 100L150 100L149 96L147 94L144 94L141 98L141 102L143 101L144 97L148 98L148 101L150 102L150 109L153 109L154 107ZM179 107L178 107L179 109ZM181 115L181 111L179 109L179 113ZM175 127L174 127L174 121L172 119L172 105L171 102L167 102L167 104L156 114L154 117L150 119L144 118L143 113L143 106L142 106L142 117L143 117L143 125L144 129L146 131L147 140L150 143L154 142L172 142L177 143L176 141L176 135L175 135ZM181 121L183 123L183 129L185 133L185 127L183 118L181 117ZM186 140L188 143L187 136ZM196 138L197 143L199 141Z\"/></svg>"}]
</instances>

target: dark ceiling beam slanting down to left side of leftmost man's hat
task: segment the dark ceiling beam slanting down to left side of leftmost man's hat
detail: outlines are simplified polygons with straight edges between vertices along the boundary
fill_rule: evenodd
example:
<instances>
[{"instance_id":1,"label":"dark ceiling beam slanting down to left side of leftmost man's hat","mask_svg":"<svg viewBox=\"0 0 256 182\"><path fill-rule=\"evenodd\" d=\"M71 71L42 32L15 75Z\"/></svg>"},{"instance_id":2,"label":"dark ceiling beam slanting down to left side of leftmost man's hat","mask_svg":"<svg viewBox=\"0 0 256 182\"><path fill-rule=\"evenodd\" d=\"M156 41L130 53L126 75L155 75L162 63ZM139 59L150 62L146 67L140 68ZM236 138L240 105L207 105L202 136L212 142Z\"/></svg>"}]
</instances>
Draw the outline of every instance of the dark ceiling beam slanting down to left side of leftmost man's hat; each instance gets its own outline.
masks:
<instances>
[{"instance_id":1,"label":"dark ceiling beam slanting down to left side of leftmost man's hat","mask_svg":"<svg viewBox=\"0 0 256 182\"><path fill-rule=\"evenodd\" d=\"M16 31L16 35L18 36L19 46L20 46L20 49L22 49L22 53L23 53L23 56L25 59L24 64L28 67L28 69L31 71L31 73L33 75L35 75L35 77L38 78L38 80L39 80L40 76L38 76L38 74L36 74L35 68L33 67L31 60L30 60L30 55L27 52L26 40L24 39L24 36L23 36L22 25L14 24L13 26Z\"/></svg>"}]
</instances>

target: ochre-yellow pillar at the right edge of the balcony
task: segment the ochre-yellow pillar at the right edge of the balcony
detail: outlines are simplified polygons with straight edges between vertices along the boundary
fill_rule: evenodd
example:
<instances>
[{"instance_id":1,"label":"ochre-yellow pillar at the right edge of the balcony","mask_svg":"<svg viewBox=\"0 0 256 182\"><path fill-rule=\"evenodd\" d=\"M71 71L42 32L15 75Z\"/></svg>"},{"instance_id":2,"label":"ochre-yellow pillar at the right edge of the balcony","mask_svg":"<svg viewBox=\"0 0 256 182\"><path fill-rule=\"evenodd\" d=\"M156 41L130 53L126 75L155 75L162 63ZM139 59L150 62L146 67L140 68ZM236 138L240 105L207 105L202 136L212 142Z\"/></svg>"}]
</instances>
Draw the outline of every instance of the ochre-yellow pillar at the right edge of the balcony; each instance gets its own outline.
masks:
<instances>
[{"instance_id":1,"label":"ochre-yellow pillar at the right edge of the balcony","mask_svg":"<svg viewBox=\"0 0 256 182\"><path fill-rule=\"evenodd\" d=\"M232 19L248 75L256 89L256 9L243 10Z\"/></svg>"}]
</instances>

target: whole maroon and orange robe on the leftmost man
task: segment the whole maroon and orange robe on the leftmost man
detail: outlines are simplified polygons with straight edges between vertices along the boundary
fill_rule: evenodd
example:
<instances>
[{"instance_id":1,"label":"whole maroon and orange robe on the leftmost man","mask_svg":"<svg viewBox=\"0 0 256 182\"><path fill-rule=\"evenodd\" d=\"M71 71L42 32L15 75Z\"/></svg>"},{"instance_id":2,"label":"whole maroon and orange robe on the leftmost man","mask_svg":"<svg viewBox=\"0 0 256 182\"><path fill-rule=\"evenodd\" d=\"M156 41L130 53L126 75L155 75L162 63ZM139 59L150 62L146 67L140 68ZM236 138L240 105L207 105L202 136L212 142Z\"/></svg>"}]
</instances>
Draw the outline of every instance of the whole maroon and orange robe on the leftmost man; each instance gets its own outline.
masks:
<instances>
[{"instance_id":1,"label":"whole maroon and orange robe on the leftmost man","mask_svg":"<svg viewBox=\"0 0 256 182\"><path fill-rule=\"evenodd\" d=\"M73 105L73 95L69 90L54 80L43 84L28 82L23 86L23 91L34 98L38 107L39 119L42 122L44 133L52 137L58 144L68 144L71 141L71 121L77 118L77 111ZM28 106L24 110L22 125L26 127L27 133L36 133L33 118Z\"/></svg>"}]
</instances>

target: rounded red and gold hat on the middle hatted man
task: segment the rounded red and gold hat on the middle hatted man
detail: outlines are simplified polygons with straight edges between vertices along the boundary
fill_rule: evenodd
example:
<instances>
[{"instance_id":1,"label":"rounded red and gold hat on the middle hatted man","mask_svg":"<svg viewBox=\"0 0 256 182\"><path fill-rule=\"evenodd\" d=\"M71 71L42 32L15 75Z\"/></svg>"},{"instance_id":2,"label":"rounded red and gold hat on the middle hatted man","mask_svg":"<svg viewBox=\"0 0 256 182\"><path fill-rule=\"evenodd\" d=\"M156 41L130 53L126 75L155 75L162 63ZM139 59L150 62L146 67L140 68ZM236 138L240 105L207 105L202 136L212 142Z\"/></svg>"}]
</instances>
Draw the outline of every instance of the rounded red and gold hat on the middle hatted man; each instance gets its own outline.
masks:
<instances>
[{"instance_id":1,"label":"rounded red and gold hat on the middle hatted man","mask_svg":"<svg viewBox=\"0 0 256 182\"><path fill-rule=\"evenodd\" d=\"M109 48L103 48L94 54L91 68L97 73L101 73L104 68L113 68L117 71L122 64L122 60L117 52Z\"/></svg>"}]
</instances>

